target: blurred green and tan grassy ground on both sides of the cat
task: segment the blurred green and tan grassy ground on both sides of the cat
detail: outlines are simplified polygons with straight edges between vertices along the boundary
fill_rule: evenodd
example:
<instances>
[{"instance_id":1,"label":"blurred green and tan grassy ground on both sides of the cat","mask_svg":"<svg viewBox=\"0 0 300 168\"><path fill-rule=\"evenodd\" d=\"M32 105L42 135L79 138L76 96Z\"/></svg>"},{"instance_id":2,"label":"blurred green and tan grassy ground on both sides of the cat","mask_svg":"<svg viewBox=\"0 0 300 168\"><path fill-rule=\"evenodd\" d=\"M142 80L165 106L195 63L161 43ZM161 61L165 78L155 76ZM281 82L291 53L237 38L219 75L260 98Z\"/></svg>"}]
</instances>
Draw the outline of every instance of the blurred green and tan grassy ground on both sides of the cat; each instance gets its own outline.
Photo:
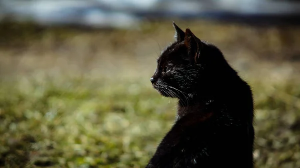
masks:
<instances>
[{"instance_id":1,"label":"blurred green and tan grassy ground on both sides of the cat","mask_svg":"<svg viewBox=\"0 0 300 168\"><path fill-rule=\"evenodd\" d=\"M58 41L47 30L30 45L1 49L0 167L144 167L176 111L176 101L161 97L149 82L157 43L163 46L173 33L171 24L161 24L136 32L75 32ZM295 62L257 59L266 52L257 48L255 54L243 50L237 59L230 54L253 40L256 29L206 26L250 34L244 43L226 33L210 41L231 39L238 45L220 46L253 89L257 168L300 167L300 80Z\"/></svg>"}]
</instances>

